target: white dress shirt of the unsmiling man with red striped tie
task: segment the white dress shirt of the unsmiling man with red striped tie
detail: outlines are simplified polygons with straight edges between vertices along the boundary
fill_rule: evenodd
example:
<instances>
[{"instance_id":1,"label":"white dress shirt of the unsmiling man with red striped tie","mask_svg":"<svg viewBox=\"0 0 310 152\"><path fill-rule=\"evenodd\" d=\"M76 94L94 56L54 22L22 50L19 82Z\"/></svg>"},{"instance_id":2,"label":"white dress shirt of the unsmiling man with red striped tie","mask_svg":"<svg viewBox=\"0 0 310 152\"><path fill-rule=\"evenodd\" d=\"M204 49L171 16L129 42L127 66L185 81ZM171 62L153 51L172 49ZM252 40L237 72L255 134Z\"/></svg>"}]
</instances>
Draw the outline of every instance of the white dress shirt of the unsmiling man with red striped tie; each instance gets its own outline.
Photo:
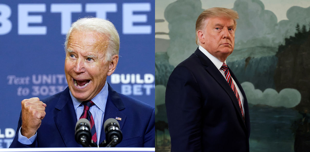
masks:
<instances>
[{"instance_id":1,"label":"white dress shirt of the unsmiling man with red striped tie","mask_svg":"<svg viewBox=\"0 0 310 152\"><path fill-rule=\"evenodd\" d=\"M220 61L219 59L217 59L215 56L213 56L212 54L210 54L206 49L204 49L202 46L199 45L198 49L203 53L205 54L210 60L211 62L215 65L215 67L219 70L219 72L222 73L224 79L226 80L226 76L225 76L225 73L224 71L221 69L222 65L223 65L223 62ZM226 60L224 61L224 63L226 63ZM244 107L243 107L243 102L244 102L244 98L243 98L243 95L238 87L238 85L236 84L235 80L233 80L232 78L232 82L233 84L235 85L237 91L238 91L238 94L239 94L239 98L240 98L240 101L241 101L241 106L242 106L242 110L243 110L243 113L244 113Z\"/></svg>"}]
</instances>

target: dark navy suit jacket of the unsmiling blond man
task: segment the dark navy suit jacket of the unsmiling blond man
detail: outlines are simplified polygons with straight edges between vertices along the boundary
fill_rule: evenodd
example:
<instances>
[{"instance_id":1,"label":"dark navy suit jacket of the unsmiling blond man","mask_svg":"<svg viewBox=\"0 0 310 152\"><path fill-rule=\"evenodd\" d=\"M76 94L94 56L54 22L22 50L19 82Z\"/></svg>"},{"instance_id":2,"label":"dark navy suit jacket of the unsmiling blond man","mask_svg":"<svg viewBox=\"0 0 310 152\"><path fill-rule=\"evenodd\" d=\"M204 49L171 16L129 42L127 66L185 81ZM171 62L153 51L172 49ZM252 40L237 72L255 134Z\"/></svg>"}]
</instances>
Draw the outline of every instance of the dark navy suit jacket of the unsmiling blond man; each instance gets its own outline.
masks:
<instances>
[{"instance_id":1,"label":"dark navy suit jacket of the unsmiling blond man","mask_svg":"<svg viewBox=\"0 0 310 152\"><path fill-rule=\"evenodd\" d=\"M235 94L224 76L199 49L169 77L166 110L172 152L248 152L250 116L246 95L243 121Z\"/></svg>"}]
</instances>

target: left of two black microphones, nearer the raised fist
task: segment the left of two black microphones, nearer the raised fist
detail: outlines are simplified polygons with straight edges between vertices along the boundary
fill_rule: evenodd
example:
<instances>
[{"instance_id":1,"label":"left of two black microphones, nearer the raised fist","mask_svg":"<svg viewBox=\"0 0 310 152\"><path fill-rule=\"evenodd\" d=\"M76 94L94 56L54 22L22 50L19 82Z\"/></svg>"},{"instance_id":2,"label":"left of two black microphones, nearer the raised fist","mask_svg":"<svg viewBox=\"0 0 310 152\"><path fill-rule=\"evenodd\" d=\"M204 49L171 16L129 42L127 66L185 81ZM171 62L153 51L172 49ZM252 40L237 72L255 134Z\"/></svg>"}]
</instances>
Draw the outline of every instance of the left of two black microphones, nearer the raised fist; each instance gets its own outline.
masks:
<instances>
[{"instance_id":1,"label":"left of two black microphones, nearer the raised fist","mask_svg":"<svg viewBox=\"0 0 310 152\"><path fill-rule=\"evenodd\" d=\"M91 141L91 125L85 118L79 119L75 125L75 141L83 145L83 147L92 147Z\"/></svg>"}]
</instances>

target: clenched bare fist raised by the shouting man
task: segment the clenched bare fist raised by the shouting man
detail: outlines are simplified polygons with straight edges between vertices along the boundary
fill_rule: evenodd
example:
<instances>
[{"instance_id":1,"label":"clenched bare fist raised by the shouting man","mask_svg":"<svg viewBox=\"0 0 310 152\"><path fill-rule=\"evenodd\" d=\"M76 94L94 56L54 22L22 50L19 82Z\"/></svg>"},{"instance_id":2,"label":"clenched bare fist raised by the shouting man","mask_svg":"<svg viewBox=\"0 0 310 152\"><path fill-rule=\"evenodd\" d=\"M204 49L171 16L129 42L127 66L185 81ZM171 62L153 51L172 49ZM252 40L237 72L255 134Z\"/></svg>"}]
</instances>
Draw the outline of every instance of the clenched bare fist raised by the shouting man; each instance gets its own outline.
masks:
<instances>
[{"instance_id":1,"label":"clenched bare fist raised by the shouting man","mask_svg":"<svg viewBox=\"0 0 310 152\"><path fill-rule=\"evenodd\" d=\"M27 138L32 137L45 117L46 104L39 98L24 99L21 101L21 134Z\"/></svg>"}]
</instances>

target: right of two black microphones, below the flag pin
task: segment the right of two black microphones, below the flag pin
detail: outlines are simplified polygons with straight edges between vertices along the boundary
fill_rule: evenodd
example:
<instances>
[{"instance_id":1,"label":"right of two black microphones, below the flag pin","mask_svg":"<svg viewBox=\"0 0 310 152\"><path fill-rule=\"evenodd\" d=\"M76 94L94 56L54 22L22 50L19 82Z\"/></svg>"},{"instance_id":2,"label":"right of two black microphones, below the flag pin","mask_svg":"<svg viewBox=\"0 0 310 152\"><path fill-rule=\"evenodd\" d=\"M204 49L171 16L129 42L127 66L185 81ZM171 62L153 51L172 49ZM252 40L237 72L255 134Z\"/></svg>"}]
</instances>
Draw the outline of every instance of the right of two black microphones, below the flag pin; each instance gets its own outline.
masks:
<instances>
[{"instance_id":1,"label":"right of two black microphones, below the flag pin","mask_svg":"<svg viewBox=\"0 0 310 152\"><path fill-rule=\"evenodd\" d=\"M106 147L115 147L123 139L121 129L116 119L109 118L104 122L105 139L109 143Z\"/></svg>"}]
</instances>

